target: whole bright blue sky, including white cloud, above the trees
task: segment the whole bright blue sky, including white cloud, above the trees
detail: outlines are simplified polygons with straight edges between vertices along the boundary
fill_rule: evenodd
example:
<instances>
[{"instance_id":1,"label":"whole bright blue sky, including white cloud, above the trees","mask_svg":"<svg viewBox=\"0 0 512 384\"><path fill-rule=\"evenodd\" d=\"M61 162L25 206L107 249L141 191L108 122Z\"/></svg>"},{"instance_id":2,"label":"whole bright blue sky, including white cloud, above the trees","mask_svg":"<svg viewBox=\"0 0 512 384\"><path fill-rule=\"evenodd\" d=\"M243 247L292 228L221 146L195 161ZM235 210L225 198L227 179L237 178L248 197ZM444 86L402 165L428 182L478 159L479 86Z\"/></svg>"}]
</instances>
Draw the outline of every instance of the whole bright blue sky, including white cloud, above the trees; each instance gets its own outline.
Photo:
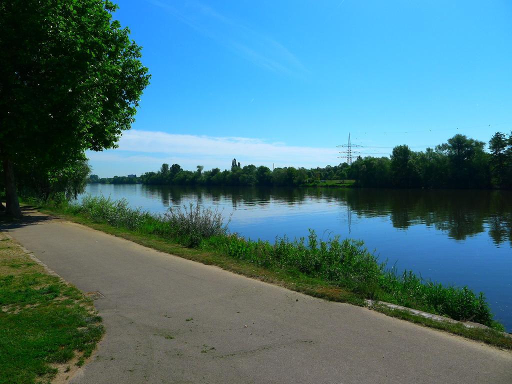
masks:
<instances>
[{"instance_id":1,"label":"whole bright blue sky, including white cloud, above the trees","mask_svg":"<svg viewBox=\"0 0 512 384\"><path fill-rule=\"evenodd\" d=\"M325 166L512 130L512 2L119 0L152 80L100 177ZM379 155L374 155L379 156Z\"/></svg>"}]
</instances>

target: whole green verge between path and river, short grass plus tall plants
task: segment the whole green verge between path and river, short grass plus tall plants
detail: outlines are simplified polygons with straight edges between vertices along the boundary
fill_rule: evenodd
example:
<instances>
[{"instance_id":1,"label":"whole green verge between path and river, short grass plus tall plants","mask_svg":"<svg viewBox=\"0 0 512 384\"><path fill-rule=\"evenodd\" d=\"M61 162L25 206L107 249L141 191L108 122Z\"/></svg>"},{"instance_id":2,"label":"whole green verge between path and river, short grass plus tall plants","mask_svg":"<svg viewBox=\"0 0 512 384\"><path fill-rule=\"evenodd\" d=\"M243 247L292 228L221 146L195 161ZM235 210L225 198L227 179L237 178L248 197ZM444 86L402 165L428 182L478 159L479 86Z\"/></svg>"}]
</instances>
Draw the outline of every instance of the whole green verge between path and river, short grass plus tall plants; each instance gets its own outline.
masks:
<instances>
[{"instance_id":1,"label":"whole green verge between path and river, short grass plus tall plants","mask_svg":"<svg viewBox=\"0 0 512 384\"><path fill-rule=\"evenodd\" d=\"M361 242L317 241L314 232L307 243L305 239L289 241L286 238L276 240L275 244L250 241L226 233L218 217L210 212L208 221L205 219L208 214L201 214L199 208L190 207L189 215L161 217L104 198L92 198L78 206L47 207L43 211L61 214L71 221L147 247L315 297L355 305L364 305L365 298L372 298L480 322L494 329L468 329L414 317L415 323L512 349L512 339L500 332L502 326L493 321L482 294L475 295L467 288L424 282L411 272L397 275L378 264ZM211 230L208 223L217 230ZM208 236L204 236L206 232ZM382 312L399 315L399 311ZM400 317L409 319L406 315Z\"/></svg>"}]
</instances>

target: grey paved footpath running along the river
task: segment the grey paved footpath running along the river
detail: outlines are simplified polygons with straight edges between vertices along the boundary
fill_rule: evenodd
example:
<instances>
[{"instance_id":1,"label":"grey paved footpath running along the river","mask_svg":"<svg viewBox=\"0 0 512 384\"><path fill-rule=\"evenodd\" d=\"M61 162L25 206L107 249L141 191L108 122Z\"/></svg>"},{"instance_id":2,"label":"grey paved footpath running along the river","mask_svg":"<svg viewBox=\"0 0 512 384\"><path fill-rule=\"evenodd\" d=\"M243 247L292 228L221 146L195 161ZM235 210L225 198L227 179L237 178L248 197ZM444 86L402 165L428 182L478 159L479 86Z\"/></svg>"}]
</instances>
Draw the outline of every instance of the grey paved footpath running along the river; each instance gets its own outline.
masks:
<instances>
[{"instance_id":1,"label":"grey paved footpath running along the river","mask_svg":"<svg viewBox=\"0 0 512 384\"><path fill-rule=\"evenodd\" d=\"M73 383L512 383L512 353L32 214L2 229L95 301Z\"/></svg>"}]
</instances>

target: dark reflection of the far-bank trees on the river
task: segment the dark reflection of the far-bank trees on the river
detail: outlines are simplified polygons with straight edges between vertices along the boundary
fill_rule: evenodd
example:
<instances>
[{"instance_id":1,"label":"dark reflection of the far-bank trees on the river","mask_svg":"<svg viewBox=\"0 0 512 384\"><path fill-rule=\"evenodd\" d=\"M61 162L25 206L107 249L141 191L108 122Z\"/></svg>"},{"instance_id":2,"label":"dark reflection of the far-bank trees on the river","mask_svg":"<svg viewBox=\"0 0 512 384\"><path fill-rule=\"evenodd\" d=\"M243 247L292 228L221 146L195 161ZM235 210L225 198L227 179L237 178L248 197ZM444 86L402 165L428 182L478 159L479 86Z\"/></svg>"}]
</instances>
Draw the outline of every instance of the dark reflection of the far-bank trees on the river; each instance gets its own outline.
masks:
<instances>
[{"instance_id":1,"label":"dark reflection of the far-bank trees on the river","mask_svg":"<svg viewBox=\"0 0 512 384\"><path fill-rule=\"evenodd\" d=\"M358 217L389 217L393 227L434 226L454 240L487 231L494 244L512 246L512 192L500 190L258 188L144 185L146 194L157 196L164 206L189 200L219 204L230 200L232 209L265 207L270 202L301 205L339 201Z\"/></svg>"}]
</instances>

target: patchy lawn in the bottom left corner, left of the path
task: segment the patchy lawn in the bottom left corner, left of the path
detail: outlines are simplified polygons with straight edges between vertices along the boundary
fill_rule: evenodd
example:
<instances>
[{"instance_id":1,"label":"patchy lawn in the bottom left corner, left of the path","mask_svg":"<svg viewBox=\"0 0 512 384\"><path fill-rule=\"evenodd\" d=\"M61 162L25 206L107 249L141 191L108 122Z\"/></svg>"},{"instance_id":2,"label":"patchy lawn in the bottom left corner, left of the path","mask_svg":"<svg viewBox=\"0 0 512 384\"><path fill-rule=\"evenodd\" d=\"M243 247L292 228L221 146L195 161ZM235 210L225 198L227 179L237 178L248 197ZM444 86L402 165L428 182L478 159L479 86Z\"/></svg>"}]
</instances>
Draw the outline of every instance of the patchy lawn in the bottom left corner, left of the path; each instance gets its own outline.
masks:
<instances>
[{"instance_id":1,"label":"patchy lawn in the bottom left corner, left of the path","mask_svg":"<svg viewBox=\"0 0 512 384\"><path fill-rule=\"evenodd\" d=\"M83 364L103 334L91 300L0 232L0 382L48 383Z\"/></svg>"}]
</instances>

